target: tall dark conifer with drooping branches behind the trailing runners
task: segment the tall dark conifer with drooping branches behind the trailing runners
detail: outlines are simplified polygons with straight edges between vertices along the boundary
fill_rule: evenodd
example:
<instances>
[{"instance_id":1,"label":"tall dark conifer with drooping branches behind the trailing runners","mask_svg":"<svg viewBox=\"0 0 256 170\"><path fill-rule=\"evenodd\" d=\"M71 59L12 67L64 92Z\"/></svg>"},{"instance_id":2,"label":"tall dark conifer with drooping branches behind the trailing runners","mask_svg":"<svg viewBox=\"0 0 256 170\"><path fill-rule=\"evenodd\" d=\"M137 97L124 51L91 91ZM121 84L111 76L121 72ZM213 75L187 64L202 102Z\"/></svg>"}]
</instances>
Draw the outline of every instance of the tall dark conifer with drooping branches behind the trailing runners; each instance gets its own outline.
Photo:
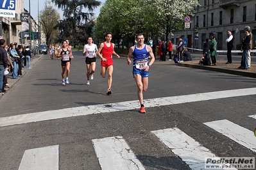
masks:
<instances>
[{"instance_id":1,"label":"tall dark conifer with drooping branches behind the trailing runners","mask_svg":"<svg viewBox=\"0 0 256 170\"><path fill-rule=\"evenodd\" d=\"M89 26L85 25L92 24L90 19L94 16L93 10L101 2L96 0L51 1L64 11L64 19L60 20L56 26L60 30L60 38L63 38L62 40L69 38L74 45L81 43L90 34L86 29Z\"/></svg>"}]
</instances>

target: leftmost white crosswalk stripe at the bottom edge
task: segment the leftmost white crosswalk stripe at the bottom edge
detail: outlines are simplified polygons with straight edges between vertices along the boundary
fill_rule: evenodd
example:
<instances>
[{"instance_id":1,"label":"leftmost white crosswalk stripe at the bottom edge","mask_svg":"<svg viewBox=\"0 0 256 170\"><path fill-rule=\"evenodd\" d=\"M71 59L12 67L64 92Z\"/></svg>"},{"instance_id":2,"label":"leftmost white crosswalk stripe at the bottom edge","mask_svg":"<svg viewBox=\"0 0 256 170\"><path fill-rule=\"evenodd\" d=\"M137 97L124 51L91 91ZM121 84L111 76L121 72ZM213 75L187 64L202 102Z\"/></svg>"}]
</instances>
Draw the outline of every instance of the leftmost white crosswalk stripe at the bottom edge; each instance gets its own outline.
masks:
<instances>
[{"instance_id":1,"label":"leftmost white crosswalk stripe at the bottom edge","mask_svg":"<svg viewBox=\"0 0 256 170\"><path fill-rule=\"evenodd\" d=\"M19 170L58 170L58 145L24 151Z\"/></svg>"}]
</instances>

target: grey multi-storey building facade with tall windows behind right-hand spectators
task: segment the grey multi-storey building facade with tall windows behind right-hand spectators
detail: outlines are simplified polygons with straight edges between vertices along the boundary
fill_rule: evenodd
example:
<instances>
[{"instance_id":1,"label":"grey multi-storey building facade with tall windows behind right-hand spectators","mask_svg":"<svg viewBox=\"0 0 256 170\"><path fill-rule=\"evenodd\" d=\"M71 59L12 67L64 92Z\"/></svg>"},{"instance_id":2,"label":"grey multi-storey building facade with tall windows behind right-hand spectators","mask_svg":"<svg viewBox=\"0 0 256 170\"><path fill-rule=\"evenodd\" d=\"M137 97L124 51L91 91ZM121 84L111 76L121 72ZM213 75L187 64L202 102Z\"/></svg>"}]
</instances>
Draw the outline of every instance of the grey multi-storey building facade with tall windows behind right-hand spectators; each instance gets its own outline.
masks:
<instances>
[{"instance_id":1,"label":"grey multi-storey building facade with tall windows behind right-hand spectators","mask_svg":"<svg viewBox=\"0 0 256 170\"><path fill-rule=\"evenodd\" d=\"M256 45L256 1L255 0L198 0L200 6L191 17L190 28L171 36L187 38L187 47L202 49L203 40L216 35L218 50L226 50L227 31L234 36L233 50L241 48L244 27L250 26L253 33L253 47Z\"/></svg>"}]
</instances>

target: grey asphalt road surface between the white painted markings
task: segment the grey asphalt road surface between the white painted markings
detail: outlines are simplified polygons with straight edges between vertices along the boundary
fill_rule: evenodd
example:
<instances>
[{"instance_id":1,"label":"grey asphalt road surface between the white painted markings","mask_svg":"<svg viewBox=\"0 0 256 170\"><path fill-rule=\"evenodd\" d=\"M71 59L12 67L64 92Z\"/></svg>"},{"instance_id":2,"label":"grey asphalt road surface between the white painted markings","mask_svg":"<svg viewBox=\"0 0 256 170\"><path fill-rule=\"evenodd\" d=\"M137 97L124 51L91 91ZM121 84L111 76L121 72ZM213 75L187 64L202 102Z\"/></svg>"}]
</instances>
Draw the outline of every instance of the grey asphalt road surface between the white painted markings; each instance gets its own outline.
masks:
<instances>
[{"instance_id":1,"label":"grey asphalt road surface between the white painted markings","mask_svg":"<svg viewBox=\"0 0 256 170\"><path fill-rule=\"evenodd\" d=\"M61 84L60 60L51 60L49 54L43 56L1 100L0 117L137 101L132 66L127 65L125 58L114 58L113 94L108 96L105 95L107 78L100 75L99 59L94 80L90 81L90 86L85 84L85 59L81 53L73 52L70 84L65 86ZM173 61L155 61L144 99L244 88L256 88L256 80L179 67ZM123 136L145 169L190 169L151 132L176 127L218 157L255 157L255 151L203 124L229 120L253 131L256 120L248 116L255 114L255 97L239 95L183 104L159 103L155 107L145 104L146 114L130 109L0 127L0 167L18 169L24 151L59 145L59 169L101 169L92 139Z\"/></svg>"}]
</instances>

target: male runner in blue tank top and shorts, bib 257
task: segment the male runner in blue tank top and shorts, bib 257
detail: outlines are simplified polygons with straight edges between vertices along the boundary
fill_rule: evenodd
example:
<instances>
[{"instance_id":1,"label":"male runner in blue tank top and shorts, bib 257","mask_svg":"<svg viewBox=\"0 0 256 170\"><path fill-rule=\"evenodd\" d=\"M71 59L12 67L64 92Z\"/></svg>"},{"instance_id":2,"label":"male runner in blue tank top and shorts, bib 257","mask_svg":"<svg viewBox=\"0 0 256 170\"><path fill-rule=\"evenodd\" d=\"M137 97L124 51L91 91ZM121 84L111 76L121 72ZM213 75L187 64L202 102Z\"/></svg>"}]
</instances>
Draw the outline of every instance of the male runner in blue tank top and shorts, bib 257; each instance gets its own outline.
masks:
<instances>
[{"instance_id":1,"label":"male runner in blue tank top and shorts, bib 257","mask_svg":"<svg viewBox=\"0 0 256 170\"><path fill-rule=\"evenodd\" d=\"M127 63L130 65L132 63L131 57L133 56L133 78L135 79L137 85L137 95L139 98L139 102L141 104L141 113L146 113L145 107L143 104L143 91L148 89L148 75L149 68L153 65L155 58L152 52L152 49L149 45L144 43L144 36L142 34L138 34L136 36L137 43L130 47L129 53L127 56ZM151 61L149 63L148 58L151 57Z\"/></svg>"}]
</instances>

